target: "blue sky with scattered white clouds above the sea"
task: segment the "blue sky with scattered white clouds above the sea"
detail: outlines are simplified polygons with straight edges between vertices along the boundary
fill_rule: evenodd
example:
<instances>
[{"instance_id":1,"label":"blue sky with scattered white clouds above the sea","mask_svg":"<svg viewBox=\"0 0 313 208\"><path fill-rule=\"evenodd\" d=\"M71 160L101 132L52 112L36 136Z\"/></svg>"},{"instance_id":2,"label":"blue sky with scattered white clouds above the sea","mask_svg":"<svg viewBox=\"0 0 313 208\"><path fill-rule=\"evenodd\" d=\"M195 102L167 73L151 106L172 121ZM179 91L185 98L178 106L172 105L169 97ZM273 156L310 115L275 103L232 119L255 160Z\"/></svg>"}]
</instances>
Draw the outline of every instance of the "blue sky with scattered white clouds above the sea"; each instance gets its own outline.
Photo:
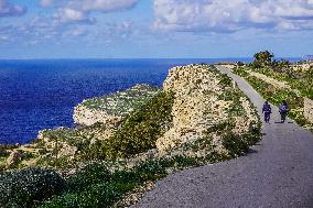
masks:
<instances>
[{"instance_id":1,"label":"blue sky with scattered white clouds above the sea","mask_svg":"<svg viewBox=\"0 0 313 208\"><path fill-rule=\"evenodd\" d=\"M0 59L313 54L313 0L0 0Z\"/></svg>"}]
</instances>

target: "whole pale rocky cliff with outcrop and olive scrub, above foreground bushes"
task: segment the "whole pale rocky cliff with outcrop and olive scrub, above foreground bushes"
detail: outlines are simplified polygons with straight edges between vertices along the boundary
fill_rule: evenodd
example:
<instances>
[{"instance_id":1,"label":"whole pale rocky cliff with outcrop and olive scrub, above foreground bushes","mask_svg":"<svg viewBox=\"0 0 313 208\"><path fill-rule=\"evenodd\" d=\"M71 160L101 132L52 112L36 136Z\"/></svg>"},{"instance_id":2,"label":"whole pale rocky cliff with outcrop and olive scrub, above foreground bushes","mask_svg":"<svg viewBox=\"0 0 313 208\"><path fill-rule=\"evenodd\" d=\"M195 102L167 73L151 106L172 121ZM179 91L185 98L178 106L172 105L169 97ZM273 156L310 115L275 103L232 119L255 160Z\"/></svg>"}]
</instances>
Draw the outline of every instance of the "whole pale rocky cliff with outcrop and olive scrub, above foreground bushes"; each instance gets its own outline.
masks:
<instances>
[{"instance_id":1,"label":"whole pale rocky cliff with outcrop and olive scrub, above foreground bushes","mask_svg":"<svg viewBox=\"0 0 313 208\"><path fill-rule=\"evenodd\" d=\"M253 106L229 77L205 64L172 68L163 89L137 85L84 100L74 111L77 128L43 130L29 145L33 166L118 160L130 167L175 156L205 162L208 155L239 156L259 139Z\"/></svg>"}]
</instances>

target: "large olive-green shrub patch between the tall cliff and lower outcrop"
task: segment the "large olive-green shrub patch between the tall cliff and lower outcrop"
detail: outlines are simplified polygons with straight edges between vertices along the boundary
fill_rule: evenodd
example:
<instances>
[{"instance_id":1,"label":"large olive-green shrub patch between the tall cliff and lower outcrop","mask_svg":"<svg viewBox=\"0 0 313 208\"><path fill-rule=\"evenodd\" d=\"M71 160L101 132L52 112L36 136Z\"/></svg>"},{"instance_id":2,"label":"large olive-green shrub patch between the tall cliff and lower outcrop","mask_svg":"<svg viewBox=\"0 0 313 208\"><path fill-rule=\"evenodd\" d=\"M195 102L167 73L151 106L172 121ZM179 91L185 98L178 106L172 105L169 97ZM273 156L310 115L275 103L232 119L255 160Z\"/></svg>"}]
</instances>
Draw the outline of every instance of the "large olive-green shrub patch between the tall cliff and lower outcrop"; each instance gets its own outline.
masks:
<instances>
[{"instance_id":1,"label":"large olive-green shrub patch between the tall cliff and lower outcrop","mask_svg":"<svg viewBox=\"0 0 313 208\"><path fill-rule=\"evenodd\" d=\"M173 94L160 92L131 113L102 150L109 158L128 157L155 147L172 122Z\"/></svg>"}]
</instances>

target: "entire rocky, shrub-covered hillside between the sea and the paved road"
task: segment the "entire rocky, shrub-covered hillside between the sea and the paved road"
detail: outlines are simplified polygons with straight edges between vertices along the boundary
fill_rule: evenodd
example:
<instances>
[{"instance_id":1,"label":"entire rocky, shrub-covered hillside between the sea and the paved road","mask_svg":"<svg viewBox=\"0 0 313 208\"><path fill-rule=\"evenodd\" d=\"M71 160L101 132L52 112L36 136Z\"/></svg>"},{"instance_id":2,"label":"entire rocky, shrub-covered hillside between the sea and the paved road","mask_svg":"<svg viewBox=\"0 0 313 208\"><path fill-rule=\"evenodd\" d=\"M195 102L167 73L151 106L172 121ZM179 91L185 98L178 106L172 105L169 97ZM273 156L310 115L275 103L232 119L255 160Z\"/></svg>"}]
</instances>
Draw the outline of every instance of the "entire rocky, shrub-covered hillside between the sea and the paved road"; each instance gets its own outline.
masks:
<instances>
[{"instance_id":1,"label":"entire rocky, shrub-covered hillside between the sea and the paved road","mask_svg":"<svg viewBox=\"0 0 313 208\"><path fill-rule=\"evenodd\" d=\"M116 201L127 206L140 197L126 193L142 196L150 183L174 171L238 157L260 139L260 121L250 100L228 76L206 64L172 68L163 89L139 85L85 100L75 107L74 118L80 124L75 129L43 130L32 144L13 146L11 153L2 150L3 168L51 167L65 177L66 195L43 207L68 207L68 200L76 207L91 201L93 207ZM17 155L10 164L9 154ZM77 179L84 184L80 189L75 188ZM36 199L41 200L46 199Z\"/></svg>"}]
</instances>

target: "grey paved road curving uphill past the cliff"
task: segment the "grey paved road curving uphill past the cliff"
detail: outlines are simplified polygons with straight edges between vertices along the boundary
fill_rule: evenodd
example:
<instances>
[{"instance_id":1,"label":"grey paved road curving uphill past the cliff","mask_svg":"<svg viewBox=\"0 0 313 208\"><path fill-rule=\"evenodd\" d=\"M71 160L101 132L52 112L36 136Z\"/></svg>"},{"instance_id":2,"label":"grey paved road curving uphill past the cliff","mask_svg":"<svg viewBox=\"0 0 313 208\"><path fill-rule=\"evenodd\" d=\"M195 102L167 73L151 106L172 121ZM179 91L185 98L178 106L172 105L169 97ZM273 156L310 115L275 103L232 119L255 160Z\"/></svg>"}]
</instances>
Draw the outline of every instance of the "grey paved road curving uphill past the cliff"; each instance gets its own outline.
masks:
<instances>
[{"instance_id":1,"label":"grey paved road curving uphill past the cliff","mask_svg":"<svg viewBox=\"0 0 313 208\"><path fill-rule=\"evenodd\" d=\"M261 109L265 100L242 78L218 68ZM246 156L172 174L136 207L313 208L313 134L279 121L274 109L262 141Z\"/></svg>"}]
</instances>

